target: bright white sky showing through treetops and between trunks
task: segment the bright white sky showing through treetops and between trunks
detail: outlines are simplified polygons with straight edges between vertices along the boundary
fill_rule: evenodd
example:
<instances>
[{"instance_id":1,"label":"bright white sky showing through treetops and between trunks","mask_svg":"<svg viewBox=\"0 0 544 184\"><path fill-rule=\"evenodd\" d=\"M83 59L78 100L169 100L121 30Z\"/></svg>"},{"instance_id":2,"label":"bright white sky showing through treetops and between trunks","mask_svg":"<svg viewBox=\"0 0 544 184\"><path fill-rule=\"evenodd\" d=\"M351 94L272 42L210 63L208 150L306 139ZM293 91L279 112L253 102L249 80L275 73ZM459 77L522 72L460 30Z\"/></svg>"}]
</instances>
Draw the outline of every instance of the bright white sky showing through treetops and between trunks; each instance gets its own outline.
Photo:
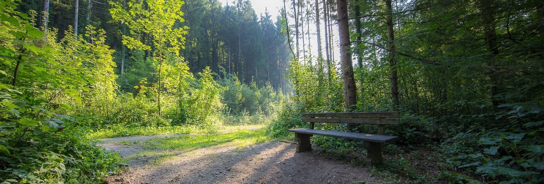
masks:
<instances>
[{"instance_id":1,"label":"bright white sky showing through treetops and between trunks","mask_svg":"<svg viewBox=\"0 0 544 184\"><path fill-rule=\"evenodd\" d=\"M312 4L315 2L315 0L302 0L302 1L310 1ZM225 4L228 4L229 5L232 5L234 4L233 0L219 0L219 2L221 2L222 6L225 6ZM251 5L253 7L253 9L255 9L255 13L257 14L257 18L261 18L261 14L264 16L264 13L265 11L268 10L268 14L271 17L272 21L276 21L277 20L277 16L281 16L280 15L280 10L281 8L283 8L283 0L250 0L251 2ZM289 3L290 2L290 3ZM321 1L320 1L321 2ZM292 8L289 8L290 5L292 5L292 1L291 0L287 0L286 2L286 5L287 5L287 9L288 9L288 12L289 11L293 11ZM308 7L310 8L310 7ZM322 9L323 8L323 4L320 4L319 5L319 8ZM315 16L315 13L316 13L316 10L315 10L315 7L313 7L311 10L310 10L314 15L312 16ZM323 10L320 10L319 12L321 15L319 15L319 17L321 19L323 19ZM313 18L310 18L310 19L315 19L315 17ZM289 24L294 24L295 20L294 19L291 19L289 18ZM325 29L324 29L324 22L323 20L319 21L320 22L320 28L321 28L321 34L322 34L322 40L321 40L321 44L322 44L322 47L323 47L323 57L325 57L325 39L324 39L324 35L325 35ZM332 23L336 23L335 20L333 20ZM300 28L299 28L299 31L300 31ZM294 39L294 29L290 30L290 34L291 34L291 37L292 37L292 41L293 41L293 49L295 49L295 41L293 40ZM306 24L306 20L304 20L304 33L305 33L305 39L306 39L306 50L308 50L308 33L307 33L307 24ZM311 42L310 44L312 45L312 56L315 57L317 56L317 28L316 28L316 22L315 20L311 20L310 21L310 38L311 38ZM332 26L332 34L333 34L333 38L332 38L332 41L333 41L333 44L334 44L334 55L335 55L335 64L338 66L338 62L340 61L340 52L339 52L339 46L338 46L338 26L337 24L333 25ZM300 57L302 57L302 38L300 37L299 38L299 44L300 44ZM296 51L295 51L296 52ZM354 64L356 62L353 62Z\"/></svg>"}]
</instances>

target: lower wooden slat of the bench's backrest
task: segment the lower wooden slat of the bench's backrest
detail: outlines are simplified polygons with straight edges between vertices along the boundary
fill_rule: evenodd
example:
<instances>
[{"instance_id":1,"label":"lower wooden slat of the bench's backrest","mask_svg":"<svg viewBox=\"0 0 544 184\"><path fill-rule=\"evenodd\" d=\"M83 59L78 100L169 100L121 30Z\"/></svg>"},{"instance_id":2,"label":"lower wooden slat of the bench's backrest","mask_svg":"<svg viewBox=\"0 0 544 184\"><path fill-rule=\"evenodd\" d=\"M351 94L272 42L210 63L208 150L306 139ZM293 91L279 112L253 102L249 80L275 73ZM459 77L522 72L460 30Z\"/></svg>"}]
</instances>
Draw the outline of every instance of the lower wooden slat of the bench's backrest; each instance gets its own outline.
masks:
<instances>
[{"instance_id":1,"label":"lower wooden slat of the bench's backrest","mask_svg":"<svg viewBox=\"0 0 544 184\"><path fill-rule=\"evenodd\" d=\"M362 119L362 118L302 118L303 122L332 122L338 124L374 124L398 125L399 119Z\"/></svg>"}]
</instances>

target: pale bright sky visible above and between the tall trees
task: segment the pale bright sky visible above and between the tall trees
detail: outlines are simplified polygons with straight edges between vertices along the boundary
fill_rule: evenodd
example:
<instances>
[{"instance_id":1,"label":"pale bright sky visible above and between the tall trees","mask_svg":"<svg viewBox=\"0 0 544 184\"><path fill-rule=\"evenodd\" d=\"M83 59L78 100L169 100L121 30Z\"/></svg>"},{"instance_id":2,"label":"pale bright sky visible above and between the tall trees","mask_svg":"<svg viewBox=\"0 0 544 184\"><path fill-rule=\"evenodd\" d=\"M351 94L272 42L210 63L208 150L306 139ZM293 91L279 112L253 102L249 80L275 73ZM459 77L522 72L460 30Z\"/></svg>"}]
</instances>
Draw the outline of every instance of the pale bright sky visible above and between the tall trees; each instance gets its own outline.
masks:
<instances>
[{"instance_id":1,"label":"pale bright sky visible above and between the tall trees","mask_svg":"<svg viewBox=\"0 0 544 184\"><path fill-rule=\"evenodd\" d=\"M232 5L234 4L233 2L235 2L236 0L219 0L221 2L221 4L223 6L225 6L225 4L228 2L229 5ZM257 17L261 17L260 15L263 14L264 15L264 12L266 10L268 10L268 13L270 14L271 19L272 21L276 21L277 19L277 16L280 16L280 9L283 8L283 0L249 0L251 1L251 5L253 6L253 9L255 9L255 13L257 14ZM290 4L287 4L287 9L290 9L289 7ZM311 10L311 11L314 11L314 10ZM289 20L289 24L293 24L294 23L294 19L290 19ZM333 22L335 23L335 22ZM307 24L306 22L304 23L304 31L305 31L305 38L306 38L306 44L308 44L308 37L307 37ZM321 21L321 32L322 34L324 34L324 23L323 21ZM316 36L316 25L315 25L315 22L312 21L310 22L310 44L312 46L312 55L313 56L316 56L317 55L317 36ZM294 30L293 30L293 33L291 33L292 36L294 34ZM339 62L340 60L340 53L339 53L339 46L338 46L338 27L337 26L332 26L332 40L333 40L333 52L334 52L334 60L336 60L336 62ZM323 36L322 36L323 37ZM323 45L323 56L325 56L325 40L324 38L322 38L322 45ZM302 47L302 38L300 38L299 40L300 42L300 46ZM294 41L293 41L294 43ZM306 45L307 47L307 45ZM300 48L300 52L302 52L302 48ZM300 54L300 56L302 57L302 53ZM354 62L355 63L355 62ZM338 63L336 63L338 64Z\"/></svg>"}]
</instances>

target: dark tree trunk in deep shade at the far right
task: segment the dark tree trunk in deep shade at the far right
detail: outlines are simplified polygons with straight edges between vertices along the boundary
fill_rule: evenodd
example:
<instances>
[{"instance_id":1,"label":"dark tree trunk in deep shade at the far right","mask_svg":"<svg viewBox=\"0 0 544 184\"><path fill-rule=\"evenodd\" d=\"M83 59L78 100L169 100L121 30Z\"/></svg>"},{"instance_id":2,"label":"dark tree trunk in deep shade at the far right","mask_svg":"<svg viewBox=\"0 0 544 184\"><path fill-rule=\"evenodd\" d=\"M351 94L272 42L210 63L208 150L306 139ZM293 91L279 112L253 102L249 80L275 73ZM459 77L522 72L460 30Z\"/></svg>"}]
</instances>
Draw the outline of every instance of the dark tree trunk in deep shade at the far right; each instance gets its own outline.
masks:
<instances>
[{"instance_id":1,"label":"dark tree trunk in deep shade at the far right","mask_svg":"<svg viewBox=\"0 0 544 184\"><path fill-rule=\"evenodd\" d=\"M499 54L499 48L497 46L497 33L495 31L495 17L493 7L493 0L481 0L480 1L480 14L484 26L484 34L487 45L487 51L491 53L489 56L489 63L487 65L493 67L496 65L494 62L496 56ZM495 98L499 94L498 90L498 73L495 70L491 69L489 71L489 78L491 81L491 102L493 106L497 107L500 105L500 101Z\"/></svg>"}]
</instances>

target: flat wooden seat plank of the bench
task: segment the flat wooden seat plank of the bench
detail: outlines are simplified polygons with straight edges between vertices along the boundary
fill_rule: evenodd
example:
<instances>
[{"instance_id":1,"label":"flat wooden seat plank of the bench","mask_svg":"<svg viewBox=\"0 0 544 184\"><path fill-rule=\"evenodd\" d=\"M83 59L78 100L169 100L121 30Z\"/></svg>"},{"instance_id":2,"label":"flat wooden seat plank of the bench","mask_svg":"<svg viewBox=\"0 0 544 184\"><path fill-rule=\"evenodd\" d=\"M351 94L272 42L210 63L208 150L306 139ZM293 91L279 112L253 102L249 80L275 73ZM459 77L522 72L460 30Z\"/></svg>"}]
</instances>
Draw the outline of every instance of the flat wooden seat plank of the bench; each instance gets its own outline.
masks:
<instances>
[{"instance_id":1,"label":"flat wooden seat plank of the bench","mask_svg":"<svg viewBox=\"0 0 544 184\"><path fill-rule=\"evenodd\" d=\"M306 128L290 129L289 132L297 132L297 133L328 136L328 137L338 137L338 138L352 139L352 140L363 140L363 141L375 142L375 143L389 143L398 138L397 136L385 136L385 135L367 134L367 133L337 132L337 131L328 131L328 130L311 130Z\"/></svg>"}]
</instances>

